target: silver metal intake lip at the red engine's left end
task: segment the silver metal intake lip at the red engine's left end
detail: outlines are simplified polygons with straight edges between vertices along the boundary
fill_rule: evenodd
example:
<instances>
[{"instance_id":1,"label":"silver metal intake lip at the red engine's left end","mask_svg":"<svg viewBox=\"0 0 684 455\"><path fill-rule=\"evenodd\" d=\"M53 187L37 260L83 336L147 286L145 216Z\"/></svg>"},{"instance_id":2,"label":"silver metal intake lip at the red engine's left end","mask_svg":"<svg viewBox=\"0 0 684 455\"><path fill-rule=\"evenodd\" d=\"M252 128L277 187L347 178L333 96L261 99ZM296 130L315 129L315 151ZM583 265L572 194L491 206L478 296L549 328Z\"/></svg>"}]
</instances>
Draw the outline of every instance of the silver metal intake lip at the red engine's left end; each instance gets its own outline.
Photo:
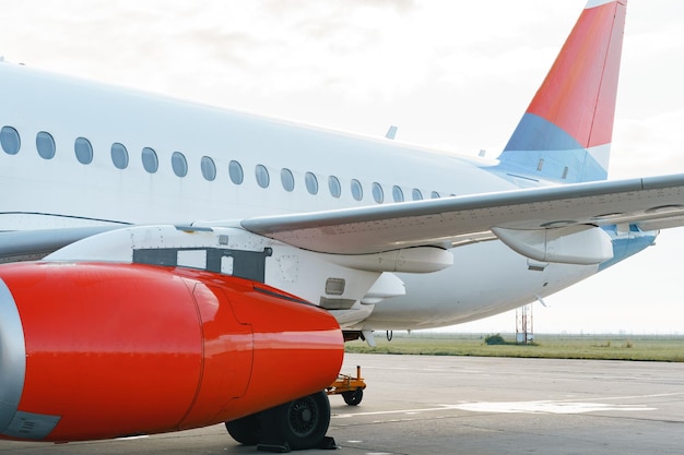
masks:
<instances>
[{"instance_id":1,"label":"silver metal intake lip at the red engine's left end","mask_svg":"<svg viewBox=\"0 0 684 455\"><path fill-rule=\"evenodd\" d=\"M24 330L12 294L0 280L0 435L16 436L16 411L24 388Z\"/></svg>"}]
</instances>

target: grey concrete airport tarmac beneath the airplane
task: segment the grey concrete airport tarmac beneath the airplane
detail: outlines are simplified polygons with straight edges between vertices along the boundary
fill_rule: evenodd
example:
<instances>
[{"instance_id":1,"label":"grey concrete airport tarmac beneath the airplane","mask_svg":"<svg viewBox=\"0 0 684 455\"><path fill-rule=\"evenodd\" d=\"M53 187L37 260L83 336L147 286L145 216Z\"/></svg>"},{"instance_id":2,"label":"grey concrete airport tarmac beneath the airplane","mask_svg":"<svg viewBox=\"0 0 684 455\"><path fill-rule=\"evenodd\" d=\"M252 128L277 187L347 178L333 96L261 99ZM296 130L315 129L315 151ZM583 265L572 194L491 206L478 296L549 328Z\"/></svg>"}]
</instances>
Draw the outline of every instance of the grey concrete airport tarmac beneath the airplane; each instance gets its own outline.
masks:
<instances>
[{"instance_id":1,"label":"grey concrete airport tarmac beneath the airplane","mask_svg":"<svg viewBox=\"0 0 684 455\"><path fill-rule=\"evenodd\" d=\"M682 454L684 363L347 355L368 383L330 397L335 452L303 454ZM293 378L296 380L296 378ZM251 454L223 426L129 440L0 442L1 454Z\"/></svg>"}]
</instances>

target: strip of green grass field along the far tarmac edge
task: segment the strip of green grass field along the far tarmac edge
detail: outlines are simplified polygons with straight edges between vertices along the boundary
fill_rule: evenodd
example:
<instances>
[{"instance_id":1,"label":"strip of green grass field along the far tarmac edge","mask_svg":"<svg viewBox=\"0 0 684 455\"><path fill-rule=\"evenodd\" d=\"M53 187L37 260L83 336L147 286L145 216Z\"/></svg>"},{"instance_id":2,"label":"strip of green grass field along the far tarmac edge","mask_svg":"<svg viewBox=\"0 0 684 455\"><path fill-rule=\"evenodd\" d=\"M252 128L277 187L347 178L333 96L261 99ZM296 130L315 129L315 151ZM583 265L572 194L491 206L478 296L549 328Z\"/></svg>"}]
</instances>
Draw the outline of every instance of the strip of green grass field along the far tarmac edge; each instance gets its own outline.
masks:
<instances>
[{"instance_id":1,"label":"strip of green grass field along the far tarmac edge","mask_svg":"<svg viewBox=\"0 0 684 455\"><path fill-rule=\"evenodd\" d=\"M516 339L515 334L503 336L507 342ZM375 348L362 340L347 343L346 351L684 362L682 335L535 335L532 345L487 345L485 335L396 333L388 342L382 332L376 340Z\"/></svg>"}]
</instances>

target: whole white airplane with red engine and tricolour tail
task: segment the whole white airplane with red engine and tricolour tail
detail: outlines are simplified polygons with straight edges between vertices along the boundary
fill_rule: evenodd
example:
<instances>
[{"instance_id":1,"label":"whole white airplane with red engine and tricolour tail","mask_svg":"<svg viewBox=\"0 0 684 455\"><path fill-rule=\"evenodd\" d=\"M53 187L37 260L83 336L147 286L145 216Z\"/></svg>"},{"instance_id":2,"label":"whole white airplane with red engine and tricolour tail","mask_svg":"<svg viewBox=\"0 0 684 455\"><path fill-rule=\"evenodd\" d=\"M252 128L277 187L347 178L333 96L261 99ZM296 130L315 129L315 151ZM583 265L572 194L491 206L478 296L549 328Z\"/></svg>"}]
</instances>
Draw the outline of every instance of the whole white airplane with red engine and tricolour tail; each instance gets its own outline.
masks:
<instances>
[{"instance_id":1,"label":"whole white airplane with red engine and tricolour tail","mask_svg":"<svg viewBox=\"0 0 684 455\"><path fill-rule=\"evenodd\" d=\"M606 180L625 0L589 0L497 159L0 63L0 438L226 422L330 444L345 340L578 283L684 225Z\"/></svg>"}]
</instances>

